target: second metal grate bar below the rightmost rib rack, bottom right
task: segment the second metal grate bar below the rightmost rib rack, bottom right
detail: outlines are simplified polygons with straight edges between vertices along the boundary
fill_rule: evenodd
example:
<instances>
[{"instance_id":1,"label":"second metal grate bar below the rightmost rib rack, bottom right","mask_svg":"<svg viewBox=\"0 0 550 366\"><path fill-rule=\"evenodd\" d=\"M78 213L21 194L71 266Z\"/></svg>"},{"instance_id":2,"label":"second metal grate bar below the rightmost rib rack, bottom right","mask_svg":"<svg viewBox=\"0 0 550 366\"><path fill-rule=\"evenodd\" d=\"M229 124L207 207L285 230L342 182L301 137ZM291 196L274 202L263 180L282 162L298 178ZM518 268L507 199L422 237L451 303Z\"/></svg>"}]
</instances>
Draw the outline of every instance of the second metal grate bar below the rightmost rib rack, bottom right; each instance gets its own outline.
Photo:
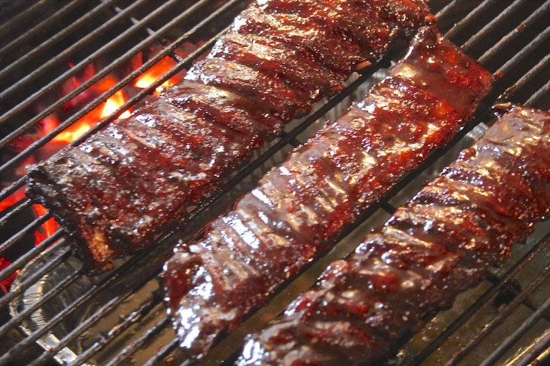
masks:
<instances>
[{"instance_id":1,"label":"second metal grate bar below the rightmost rib rack, bottom right","mask_svg":"<svg viewBox=\"0 0 550 366\"><path fill-rule=\"evenodd\" d=\"M549 276L550 266L547 266L542 271L540 271L540 273L538 273L536 279L533 279L533 282L531 282L531 284L529 284L529 286L527 286L527 288L523 290L520 295L514 298L514 300L512 300L504 310L498 313L496 317L489 321L489 323L485 324L483 329L481 329L476 334L476 336L474 336L474 338L470 339L470 341L468 341L468 343L459 352L456 352L456 354L454 354L452 358L450 358L450 361L448 361L447 364L454 365L461 361L471 350L474 349L474 347L478 345L478 343L485 339L485 337L490 332L492 332L492 330L494 330L497 325L499 325L506 317L508 317L509 314L511 314L511 312L513 312L514 309L516 309L522 303L522 301L527 298L527 296L531 295L531 293L533 293Z\"/></svg>"}]
</instances>

